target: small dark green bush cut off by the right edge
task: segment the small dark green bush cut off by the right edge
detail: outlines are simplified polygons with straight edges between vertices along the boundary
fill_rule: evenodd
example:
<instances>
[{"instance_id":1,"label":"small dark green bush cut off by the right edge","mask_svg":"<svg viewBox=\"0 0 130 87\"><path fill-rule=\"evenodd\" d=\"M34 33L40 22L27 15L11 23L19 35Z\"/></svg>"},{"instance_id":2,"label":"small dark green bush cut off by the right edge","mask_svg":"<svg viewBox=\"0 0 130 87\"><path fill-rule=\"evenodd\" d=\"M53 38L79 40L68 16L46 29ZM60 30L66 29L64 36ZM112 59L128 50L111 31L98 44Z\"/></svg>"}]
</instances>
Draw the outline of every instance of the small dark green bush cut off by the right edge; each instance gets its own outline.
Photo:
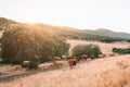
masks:
<instances>
[{"instance_id":1,"label":"small dark green bush cut off by the right edge","mask_svg":"<svg viewBox=\"0 0 130 87\"><path fill-rule=\"evenodd\" d=\"M113 48L113 52L116 52L119 54L129 54L130 48Z\"/></svg>"}]
</instances>

